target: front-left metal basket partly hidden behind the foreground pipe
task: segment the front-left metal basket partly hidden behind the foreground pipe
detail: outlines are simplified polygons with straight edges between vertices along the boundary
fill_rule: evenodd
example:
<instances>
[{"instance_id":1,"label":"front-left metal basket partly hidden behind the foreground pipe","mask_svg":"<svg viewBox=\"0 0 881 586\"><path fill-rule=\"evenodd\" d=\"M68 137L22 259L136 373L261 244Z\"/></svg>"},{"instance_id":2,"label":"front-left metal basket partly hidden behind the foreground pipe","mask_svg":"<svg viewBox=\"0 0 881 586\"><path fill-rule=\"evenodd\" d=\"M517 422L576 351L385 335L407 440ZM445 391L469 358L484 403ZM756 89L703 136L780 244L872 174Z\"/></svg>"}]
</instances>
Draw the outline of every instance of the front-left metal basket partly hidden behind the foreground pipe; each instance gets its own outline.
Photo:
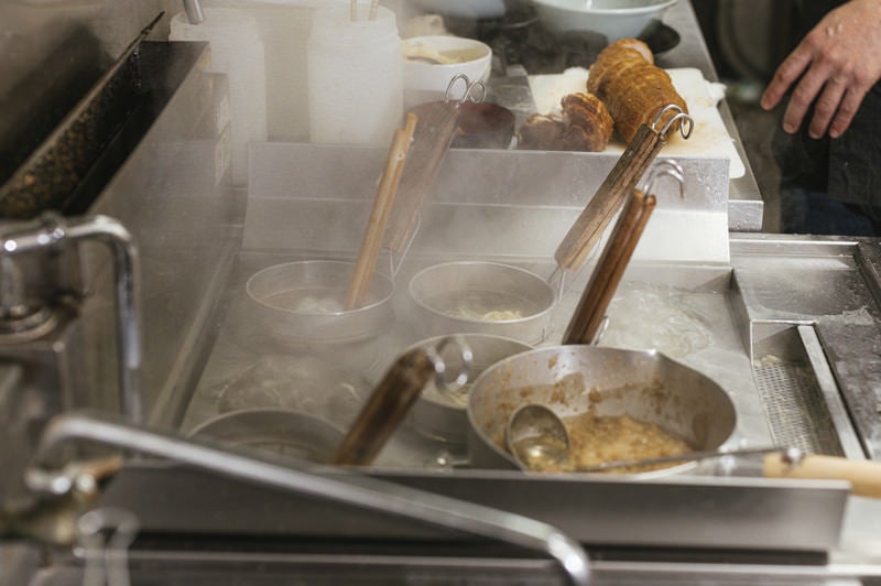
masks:
<instances>
[{"instance_id":1,"label":"front-left metal basket partly hidden behind the foreground pipe","mask_svg":"<svg viewBox=\"0 0 881 586\"><path fill-rule=\"evenodd\" d=\"M340 430L322 419L283 409L231 411L198 425L189 435L317 464L329 460L344 437Z\"/></svg>"}]
</instances>

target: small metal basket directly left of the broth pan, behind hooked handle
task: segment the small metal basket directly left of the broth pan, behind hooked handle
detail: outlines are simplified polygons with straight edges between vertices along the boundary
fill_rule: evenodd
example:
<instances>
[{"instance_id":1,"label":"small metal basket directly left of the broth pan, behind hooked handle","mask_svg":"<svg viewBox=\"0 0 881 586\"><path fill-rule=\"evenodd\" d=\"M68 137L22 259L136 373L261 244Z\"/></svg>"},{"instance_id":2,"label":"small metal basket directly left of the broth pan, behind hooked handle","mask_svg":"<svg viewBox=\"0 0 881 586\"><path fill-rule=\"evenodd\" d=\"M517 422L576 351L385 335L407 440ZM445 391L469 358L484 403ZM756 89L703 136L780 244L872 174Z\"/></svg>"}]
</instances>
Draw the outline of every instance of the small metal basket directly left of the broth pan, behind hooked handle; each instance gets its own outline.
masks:
<instances>
[{"instance_id":1,"label":"small metal basket directly left of the broth pan, behind hooked handle","mask_svg":"<svg viewBox=\"0 0 881 586\"><path fill-rule=\"evenodd\" d=\"M421 347L437 347L446 336L437 336L414 344L406 351ZM503 358L531 350L532 346L522 341L491 336L489 334L463 334L466 344L474 354L469 381L474 381L483 370ZM405 352L406 352L405 351ZM447 352L444 360L455 360ZM452 366L453 371L458 365ZM466 444L468 441L468 392L470 382L453 392L440 391L434 382L429 382L407 414L407 423L418 433L454 444Z\"/></svg>"}]
</instances>

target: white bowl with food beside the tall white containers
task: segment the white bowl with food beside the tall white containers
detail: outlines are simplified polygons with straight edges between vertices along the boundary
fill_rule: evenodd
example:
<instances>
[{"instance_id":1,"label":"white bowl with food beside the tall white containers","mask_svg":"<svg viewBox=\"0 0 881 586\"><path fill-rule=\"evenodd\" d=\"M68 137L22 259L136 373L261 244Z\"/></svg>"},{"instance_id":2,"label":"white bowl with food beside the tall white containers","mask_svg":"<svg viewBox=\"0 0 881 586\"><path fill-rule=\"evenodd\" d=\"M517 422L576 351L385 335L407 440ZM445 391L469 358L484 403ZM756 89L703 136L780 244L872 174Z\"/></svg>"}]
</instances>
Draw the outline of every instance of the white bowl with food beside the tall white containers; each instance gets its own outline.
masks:
<instances>
[{"instance_id":1,"label":"white bowl with food beside the tall white containers","mask_svg":"<svg viewBox=\"0 0 881 586\"><path fill-rule=\"evenodd\" d=\"M429 63L414 56L463 59L458 63ZM402 44L404 59L404 107L444 98L449 82L464 74L476 82L489 79L492 50L486 43L463 36L414 36ZM464 84L454 88L453 98L463 97Z\"/></svg>"}]
</instances>

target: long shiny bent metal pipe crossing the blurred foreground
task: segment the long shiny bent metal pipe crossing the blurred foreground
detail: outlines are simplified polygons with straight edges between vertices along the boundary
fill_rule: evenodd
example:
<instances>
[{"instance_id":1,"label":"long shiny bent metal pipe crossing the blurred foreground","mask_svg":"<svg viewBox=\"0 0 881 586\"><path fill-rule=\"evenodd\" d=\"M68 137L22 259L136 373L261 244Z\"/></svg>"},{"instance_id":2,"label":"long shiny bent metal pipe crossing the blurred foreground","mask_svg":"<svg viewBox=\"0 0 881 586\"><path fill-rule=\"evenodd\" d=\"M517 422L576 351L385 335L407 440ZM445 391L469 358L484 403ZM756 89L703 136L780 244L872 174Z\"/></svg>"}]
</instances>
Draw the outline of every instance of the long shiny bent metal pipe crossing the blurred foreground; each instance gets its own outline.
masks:
<instances>
[{"instance_id":1,"label":"long shiny bent metal pipe crossing the blurred foreground","mask_svg":"<svg viewBox=\"0 0 881 586\"><path fill-rule=\"evenodd\" d=\"M540 551L559 562L572 584L590 583L587 553L577 541L547 523L342 468L330 469L292 457L282 464L252 451L207 438L184 438L174 432L126 423L108 414L69 412L50 421L34 460L25 470L29 488L55 497L75 488L75 479L72 485L66 476L48 467L56 451L74 440L150 454L259 486L330 499Z\"/></svg>"}]
</instances>

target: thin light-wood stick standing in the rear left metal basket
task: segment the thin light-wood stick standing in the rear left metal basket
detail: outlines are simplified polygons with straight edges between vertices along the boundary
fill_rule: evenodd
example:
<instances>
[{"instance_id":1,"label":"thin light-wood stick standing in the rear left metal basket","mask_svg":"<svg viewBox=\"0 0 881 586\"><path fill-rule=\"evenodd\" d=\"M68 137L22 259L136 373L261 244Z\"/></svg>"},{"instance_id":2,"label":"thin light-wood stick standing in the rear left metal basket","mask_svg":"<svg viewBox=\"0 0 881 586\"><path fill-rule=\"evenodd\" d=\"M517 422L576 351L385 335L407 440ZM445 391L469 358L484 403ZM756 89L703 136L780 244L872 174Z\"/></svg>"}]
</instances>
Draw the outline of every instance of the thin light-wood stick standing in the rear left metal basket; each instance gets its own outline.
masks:
<instances>
[{"instance_id":1,"label":"thin light-wood stick standing in the rear left metal basket","mask_svg":"<svg viewBox=\"0 0 881 586\"><path fill-rule=\"evenodd\" d=\"M345 308L347 311L360 307L370 287L370 281L377 265L377 258L379 257L379 249L382 246L383 232L389 221L392 205L394 204L398 185L401 183L401 174L404 169L404 162L406 161L410 142L413 140L413 132L416 129L416 115L409 112L406 115L404 128L394 131L389 155L385 159L385 169L382 172L382 178L377 189L377 197L373 200L367 229L361 240L361 248L355 264L355 273L349 283L348 292L346 293Z\"/></svg>"}]
</instances>

